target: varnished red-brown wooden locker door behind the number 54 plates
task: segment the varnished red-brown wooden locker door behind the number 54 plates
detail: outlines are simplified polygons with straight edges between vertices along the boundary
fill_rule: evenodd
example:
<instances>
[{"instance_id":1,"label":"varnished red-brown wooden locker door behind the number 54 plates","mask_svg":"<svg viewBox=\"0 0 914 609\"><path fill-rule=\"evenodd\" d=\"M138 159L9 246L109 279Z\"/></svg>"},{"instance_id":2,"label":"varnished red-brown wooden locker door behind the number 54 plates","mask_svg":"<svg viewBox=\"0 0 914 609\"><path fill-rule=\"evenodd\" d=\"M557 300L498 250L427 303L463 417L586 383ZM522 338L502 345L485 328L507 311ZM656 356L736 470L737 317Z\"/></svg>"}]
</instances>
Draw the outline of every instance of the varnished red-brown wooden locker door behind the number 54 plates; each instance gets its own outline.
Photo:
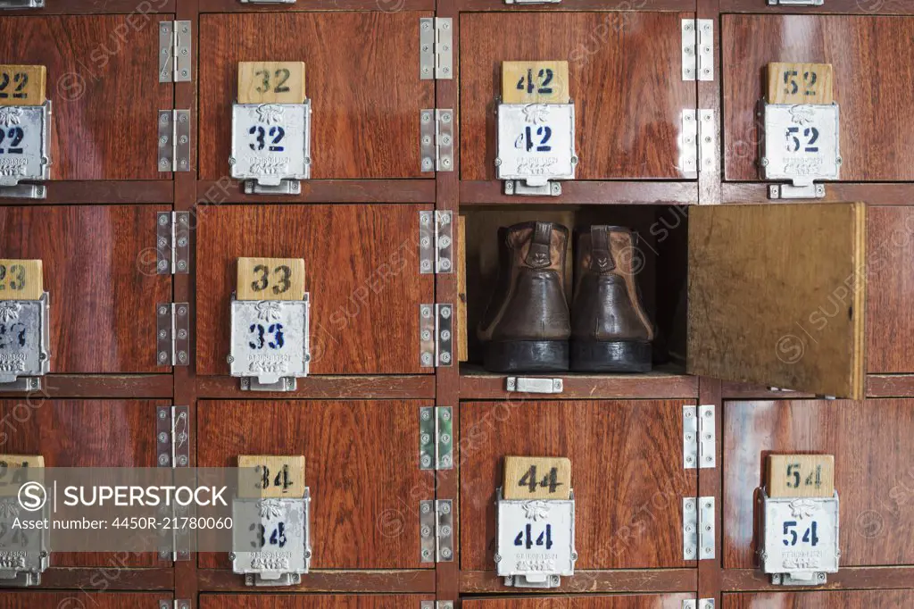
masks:
<instances>
[{"instance_id":1,"label":"varnished red-brown wooden locker door behind the number 54 plates","mask_svg":"<svg viewBox=\"0 0 914 609\"><path fill-rule=\"evenodd\" d=\"M755 564L754 494L769 453L834 454L842 566L914 562L912 435L914 400L725 402L724 566Z\"/></svg>"}]
</instances>

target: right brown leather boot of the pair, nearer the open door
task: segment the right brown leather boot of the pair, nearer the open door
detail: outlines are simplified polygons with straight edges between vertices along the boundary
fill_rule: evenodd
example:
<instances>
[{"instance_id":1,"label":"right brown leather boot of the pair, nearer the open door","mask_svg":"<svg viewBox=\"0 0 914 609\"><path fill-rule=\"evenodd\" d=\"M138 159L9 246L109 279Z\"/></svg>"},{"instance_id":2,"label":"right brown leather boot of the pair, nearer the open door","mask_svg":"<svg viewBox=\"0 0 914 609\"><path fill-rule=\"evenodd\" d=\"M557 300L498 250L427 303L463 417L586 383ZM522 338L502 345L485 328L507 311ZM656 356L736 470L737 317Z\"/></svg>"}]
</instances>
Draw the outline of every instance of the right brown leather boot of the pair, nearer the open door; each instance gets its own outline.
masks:
<instances>
[{"instance_id":1,"label":"right brown leather boot of the pair, nearer the open door","mask_svg":"<svg viewBox=\"0 0 914 609\"><path fill-rule=\"evenodd\" d=\"M632 231L591 226L579 236L571 308L571 369L647 372L654 328L635 284Z\"/></svg>"}]
</instances>

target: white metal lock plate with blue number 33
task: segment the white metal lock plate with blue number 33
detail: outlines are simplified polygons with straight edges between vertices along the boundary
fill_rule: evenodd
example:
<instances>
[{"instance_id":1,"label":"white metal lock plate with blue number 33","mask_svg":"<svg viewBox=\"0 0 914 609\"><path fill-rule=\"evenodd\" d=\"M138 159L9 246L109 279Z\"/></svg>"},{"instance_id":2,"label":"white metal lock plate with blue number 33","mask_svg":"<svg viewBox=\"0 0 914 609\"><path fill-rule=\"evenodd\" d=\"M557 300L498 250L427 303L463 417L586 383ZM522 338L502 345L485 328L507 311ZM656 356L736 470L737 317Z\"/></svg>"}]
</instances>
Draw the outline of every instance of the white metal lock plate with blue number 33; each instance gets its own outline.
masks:
<instances>
[{"instance_id":1,"label":"white metal lock plate with blue number 33","mask_svg":"<svg viewBox=\"0 0 914 609\"><path fill-rule=\"evenodd\" d=\"M308 376L310 305L309 294L303 300L233 299L231 376L254 378L274 391L290 390L290 379Z\"/></svg>"}]
</instances>

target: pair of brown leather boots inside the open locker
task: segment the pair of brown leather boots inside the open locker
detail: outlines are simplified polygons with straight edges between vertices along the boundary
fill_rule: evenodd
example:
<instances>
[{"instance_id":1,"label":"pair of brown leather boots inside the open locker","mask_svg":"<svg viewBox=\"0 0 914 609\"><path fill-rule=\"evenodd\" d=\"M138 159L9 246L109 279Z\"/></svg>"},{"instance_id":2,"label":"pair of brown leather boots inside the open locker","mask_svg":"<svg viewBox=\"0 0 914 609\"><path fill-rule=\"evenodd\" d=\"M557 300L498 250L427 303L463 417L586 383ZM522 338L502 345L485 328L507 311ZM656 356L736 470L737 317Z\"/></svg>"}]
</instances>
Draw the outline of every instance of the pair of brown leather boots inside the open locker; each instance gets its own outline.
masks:
<instances>
[{"instance_id":1,"label":"pair of brown leather boots inside the open locker","mask_svg":"<svg viewBox=\"0 0 914 609\"><path fill-rule=\"evenodd\" d=\"M647 372L654 329L634 281L632 231L579 235L574 297L565 298L569 230L524 222L498 230L498 280L478 336L493 372Z\"/></svg>"}]
</instances>

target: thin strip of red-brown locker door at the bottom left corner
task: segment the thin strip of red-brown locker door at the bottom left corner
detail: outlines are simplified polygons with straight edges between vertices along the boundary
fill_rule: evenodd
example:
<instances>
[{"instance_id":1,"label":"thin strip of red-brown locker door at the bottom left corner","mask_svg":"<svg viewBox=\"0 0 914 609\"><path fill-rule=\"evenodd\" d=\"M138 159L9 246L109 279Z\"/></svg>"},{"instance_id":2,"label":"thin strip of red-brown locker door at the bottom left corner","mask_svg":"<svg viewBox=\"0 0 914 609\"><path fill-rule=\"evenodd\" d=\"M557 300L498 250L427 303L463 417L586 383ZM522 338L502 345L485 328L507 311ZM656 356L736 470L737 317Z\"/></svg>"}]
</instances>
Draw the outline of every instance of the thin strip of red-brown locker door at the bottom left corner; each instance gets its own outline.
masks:
<instances>
[{"instance_id":1,"label":"thin strip of red-brown locker door at the bottom left corner","mask_svg":"<svg viewBox=\"0 0 914 609\"><path fill-rule=\"evenodd\" d=\"M0 593L4 609L158 609L159 601L171 602L170 593L95 593L84 591L39 592L23 590Z\"/></svg>"}]
</instances>

